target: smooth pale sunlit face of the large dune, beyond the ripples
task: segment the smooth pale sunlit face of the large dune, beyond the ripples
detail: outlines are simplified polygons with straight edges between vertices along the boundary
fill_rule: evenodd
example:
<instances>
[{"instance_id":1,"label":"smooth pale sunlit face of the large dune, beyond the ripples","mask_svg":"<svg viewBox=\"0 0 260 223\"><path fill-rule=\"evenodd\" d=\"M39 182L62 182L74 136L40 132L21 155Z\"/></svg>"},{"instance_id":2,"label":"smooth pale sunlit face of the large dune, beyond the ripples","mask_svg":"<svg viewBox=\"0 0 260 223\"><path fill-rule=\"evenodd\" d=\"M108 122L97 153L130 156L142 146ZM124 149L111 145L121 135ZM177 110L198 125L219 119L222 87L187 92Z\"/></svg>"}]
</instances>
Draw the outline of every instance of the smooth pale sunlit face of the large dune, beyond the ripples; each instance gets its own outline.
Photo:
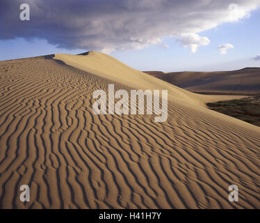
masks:
<instances>
[{"instance_id":1,"label":"smooth pale sunlit face of the large dune, beyond the ripples","mask_svg":"<svg viewBox=\"0 0 260 223\"><path fill-rule=\"evenodd\" d=\"M79 68L86 72L111 79L115 82L127 85L133 89L159 89L168 90L170 100L183 100L185 103L193 105L204 105L206 102L216 102L218 100L227 98L235 99L241 96L229 95L197 95L177 86L168 84L167 82L156 79L144 72L135 70L117 59L107 54L99 52L88 52L86 54L71 55L71 54L55 54L54 59L63 61L69 66Z\"/></svg>"}]
</instances>

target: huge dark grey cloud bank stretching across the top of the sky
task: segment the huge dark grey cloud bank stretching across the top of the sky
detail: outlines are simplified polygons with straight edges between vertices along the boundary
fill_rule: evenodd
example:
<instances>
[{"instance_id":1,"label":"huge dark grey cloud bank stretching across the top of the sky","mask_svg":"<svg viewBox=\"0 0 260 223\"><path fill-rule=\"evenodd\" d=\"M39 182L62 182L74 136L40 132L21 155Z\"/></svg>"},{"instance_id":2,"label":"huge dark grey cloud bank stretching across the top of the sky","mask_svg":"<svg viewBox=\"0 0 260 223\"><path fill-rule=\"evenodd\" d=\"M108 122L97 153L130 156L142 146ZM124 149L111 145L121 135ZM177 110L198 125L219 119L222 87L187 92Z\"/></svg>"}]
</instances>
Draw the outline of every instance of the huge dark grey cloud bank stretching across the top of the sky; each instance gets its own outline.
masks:
<instances>
[{"instance_id":1,"label":"huge dark grey cloud bank stretching across the top of the sky","mask_svg":"<svg viewBox=\"0 0 260 223\"><path fill-rule=\"evenodd\" d=\"M19 20L22 3L31 7L30 21ZM230 3L239 7L235 19L230 18ZM1 0L0 39L44 38L67 49L113 52L174 36L197 49L206 37L197 41L195 33L234 22L258 5L259 0Z\"/></svg>"}]
</instances>

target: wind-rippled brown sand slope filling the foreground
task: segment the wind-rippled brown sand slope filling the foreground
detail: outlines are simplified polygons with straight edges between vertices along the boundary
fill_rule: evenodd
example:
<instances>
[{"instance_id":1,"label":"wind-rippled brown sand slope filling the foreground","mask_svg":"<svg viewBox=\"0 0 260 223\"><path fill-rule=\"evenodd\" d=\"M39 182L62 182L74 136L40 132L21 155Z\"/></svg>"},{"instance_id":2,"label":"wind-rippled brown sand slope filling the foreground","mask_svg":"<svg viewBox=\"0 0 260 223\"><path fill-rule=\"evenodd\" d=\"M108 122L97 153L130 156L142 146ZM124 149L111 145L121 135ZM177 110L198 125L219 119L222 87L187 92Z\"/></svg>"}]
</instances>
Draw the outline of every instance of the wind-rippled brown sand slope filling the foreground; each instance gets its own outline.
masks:
<instances>
[{"instance_id":1,"label":"wind-rippled brown sand slope filling the foreground","mask_svg":"<svg viewBox=\"0 0 260 223\"><path fill-rule=\"evenodd\" d=\"M130 90L132 80L117 82L95 60L63 60L0 62L0 208L260 208L260 128L170 84L164 123L94 115L93 91ZM238 202L228 200L231 184Z\"/></svg>"}]
</instances>

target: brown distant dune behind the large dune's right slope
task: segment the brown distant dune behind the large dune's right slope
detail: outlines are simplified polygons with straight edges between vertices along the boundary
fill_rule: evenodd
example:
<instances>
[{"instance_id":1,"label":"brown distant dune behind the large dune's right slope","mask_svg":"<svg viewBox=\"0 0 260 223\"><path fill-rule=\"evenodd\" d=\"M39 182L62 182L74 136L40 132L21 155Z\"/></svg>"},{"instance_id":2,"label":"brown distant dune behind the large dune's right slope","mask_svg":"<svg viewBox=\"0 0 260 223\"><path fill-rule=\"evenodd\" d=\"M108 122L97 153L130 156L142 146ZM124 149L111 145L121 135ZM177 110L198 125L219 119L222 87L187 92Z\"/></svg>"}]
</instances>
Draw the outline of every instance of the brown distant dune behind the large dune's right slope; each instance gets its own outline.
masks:
<instances>
[{"instance_id":1,"label":"brown distant dune behind the large dune's right slope","mask_svg":"<svg viewBox=\"0 0 260 223\"><path fill-rule=\"evenodd\" d=\"M260 68L218 72L147 71L146 73L188 91L260 91Z\"/></svg>"}]
</instances>

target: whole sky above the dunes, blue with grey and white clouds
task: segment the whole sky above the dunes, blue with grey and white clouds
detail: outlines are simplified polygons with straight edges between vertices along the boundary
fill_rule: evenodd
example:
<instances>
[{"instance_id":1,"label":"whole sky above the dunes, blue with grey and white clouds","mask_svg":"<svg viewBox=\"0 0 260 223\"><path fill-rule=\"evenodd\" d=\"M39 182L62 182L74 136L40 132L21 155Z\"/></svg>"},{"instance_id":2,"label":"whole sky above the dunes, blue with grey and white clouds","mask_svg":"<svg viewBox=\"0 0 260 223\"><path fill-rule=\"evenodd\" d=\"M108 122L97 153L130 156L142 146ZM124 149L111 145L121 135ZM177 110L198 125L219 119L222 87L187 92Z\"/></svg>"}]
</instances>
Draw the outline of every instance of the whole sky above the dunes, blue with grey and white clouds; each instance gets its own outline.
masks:
<instances>
[{"instance_id":1,"label":"whole sky above the dunes, blue with grey and white clouds","mask_svg":"<svg viewBox=\"0 0 260 223\"><path fill-rule=\"evenodd\" d=\"M95 50L138 70L260 67L259 24L260 0L1 0L0 61Z\"/></svg>"}]
</instances>

